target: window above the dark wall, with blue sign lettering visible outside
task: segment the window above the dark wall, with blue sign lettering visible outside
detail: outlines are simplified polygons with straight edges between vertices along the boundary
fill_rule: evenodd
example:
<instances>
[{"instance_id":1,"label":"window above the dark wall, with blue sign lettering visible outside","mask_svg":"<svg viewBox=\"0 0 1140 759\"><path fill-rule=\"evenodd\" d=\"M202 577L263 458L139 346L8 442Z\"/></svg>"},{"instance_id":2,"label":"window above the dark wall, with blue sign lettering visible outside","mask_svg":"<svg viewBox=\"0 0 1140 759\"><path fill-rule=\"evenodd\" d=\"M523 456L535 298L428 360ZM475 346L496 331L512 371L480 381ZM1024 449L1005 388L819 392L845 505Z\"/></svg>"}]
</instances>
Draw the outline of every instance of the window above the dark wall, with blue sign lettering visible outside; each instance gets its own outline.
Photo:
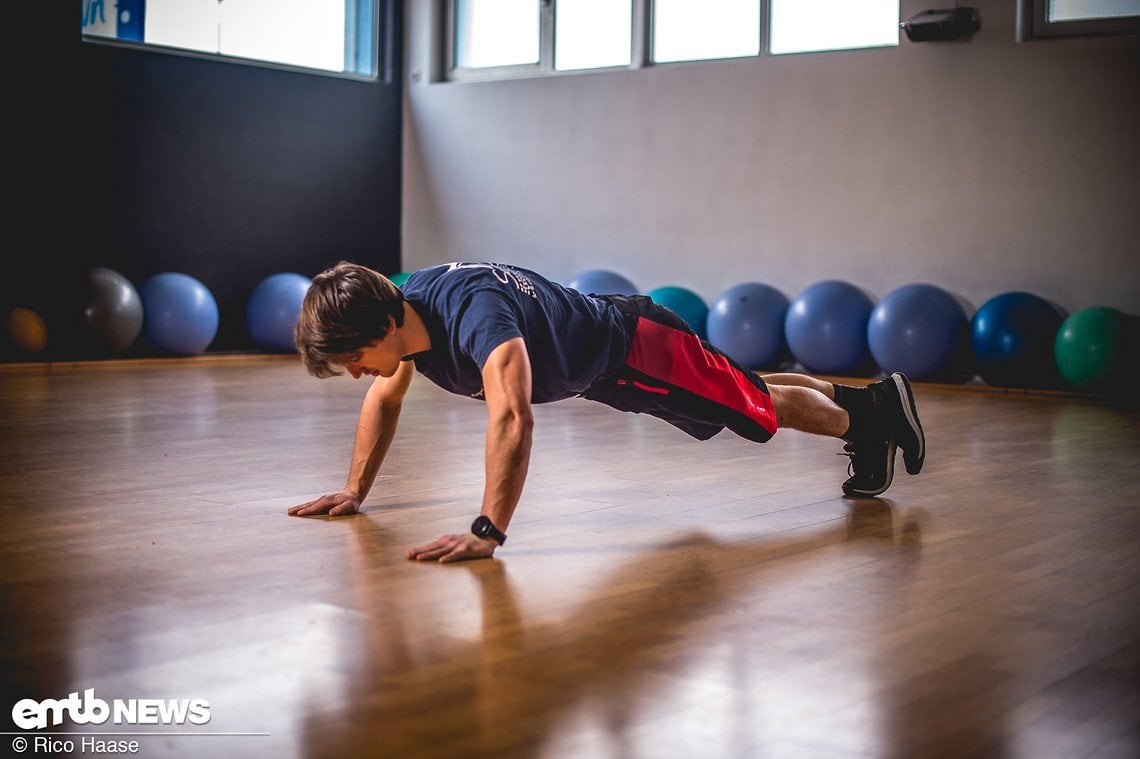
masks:
<instances>
[{"instance_id":1,"label":"window above the dark wall, with blue sign lettering visible outside","mask_svg":"<svg viewBox=\"0 0 1140 759\"><path fill-rule=\"evenodd\" d=\"M375 76L376 0L83 0L89 41Z\"/></svg>"}]
</instances>

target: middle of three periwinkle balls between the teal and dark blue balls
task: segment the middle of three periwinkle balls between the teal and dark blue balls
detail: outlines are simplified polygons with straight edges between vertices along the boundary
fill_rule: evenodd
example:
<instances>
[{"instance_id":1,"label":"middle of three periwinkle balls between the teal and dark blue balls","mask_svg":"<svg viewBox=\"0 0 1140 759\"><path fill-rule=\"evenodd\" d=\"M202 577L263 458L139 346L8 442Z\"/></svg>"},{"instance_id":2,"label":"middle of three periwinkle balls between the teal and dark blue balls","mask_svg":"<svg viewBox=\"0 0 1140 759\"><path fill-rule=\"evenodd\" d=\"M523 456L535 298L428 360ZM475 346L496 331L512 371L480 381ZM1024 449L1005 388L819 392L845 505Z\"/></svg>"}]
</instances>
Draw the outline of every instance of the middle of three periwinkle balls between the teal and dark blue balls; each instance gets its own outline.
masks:
<instances>
[{"instance_id":1,"label":"middle of three periwinkle balls between the teal and dark blue balls","mask_svg":"<svg viewBox=\"0 0 1140 759\"><path fill-rule=\"evenodd\" d=\"M868 357L866 325L874 303L855 285L824 279L805 288L788 305L784 337L808 372L844 374Z\"/></svg>"}]
</instances>

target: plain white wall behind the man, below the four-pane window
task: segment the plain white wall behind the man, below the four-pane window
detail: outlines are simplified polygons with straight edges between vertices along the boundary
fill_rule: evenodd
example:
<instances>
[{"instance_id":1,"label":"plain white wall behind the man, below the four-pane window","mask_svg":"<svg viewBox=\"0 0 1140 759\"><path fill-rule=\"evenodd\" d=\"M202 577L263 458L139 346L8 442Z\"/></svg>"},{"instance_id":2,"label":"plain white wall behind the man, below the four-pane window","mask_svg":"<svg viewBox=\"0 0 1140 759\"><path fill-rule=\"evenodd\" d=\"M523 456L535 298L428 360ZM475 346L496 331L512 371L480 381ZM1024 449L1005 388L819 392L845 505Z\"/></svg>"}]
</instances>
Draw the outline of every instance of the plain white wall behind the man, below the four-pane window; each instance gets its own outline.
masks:
<instances>
[{"instance_id":1,"label":"plain white wall behind the man, below the four-pane window","mask_svg":"<svg viewBox=\"0 0 1140 759\"><path fill-rule=\"evenodd\" d=\"M845 279L1140 313L1140 41L972 40L431 82L409 2L404 266L609 268L708 301ZM904 0L903 17L933 7Z\"/></svg>"}]
</instances>

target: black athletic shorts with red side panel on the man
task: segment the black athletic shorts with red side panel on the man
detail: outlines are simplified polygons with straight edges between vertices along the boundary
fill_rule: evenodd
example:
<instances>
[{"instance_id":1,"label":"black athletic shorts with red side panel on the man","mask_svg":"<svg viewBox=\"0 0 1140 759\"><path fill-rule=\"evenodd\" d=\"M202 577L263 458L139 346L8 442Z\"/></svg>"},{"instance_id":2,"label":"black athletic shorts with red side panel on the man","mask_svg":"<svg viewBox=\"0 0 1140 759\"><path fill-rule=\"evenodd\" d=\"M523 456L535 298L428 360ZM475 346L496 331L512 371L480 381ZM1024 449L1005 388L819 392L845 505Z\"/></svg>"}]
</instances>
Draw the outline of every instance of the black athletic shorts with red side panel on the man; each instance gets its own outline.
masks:
<instances>
[{"instance_id":1,"label":"black athletic shorts with red side panel on the man","mask_svg":"<svg viewBox=\"0 0 1140 759\"><path fill-rule=\"evenodd\" d=\"M725 427L756 442L776 431L767 385L645 295L605 295L625 316L629 352L617 374L581 393L622 411L649 414L708 440Z\"/></svg>"}]
</instances>

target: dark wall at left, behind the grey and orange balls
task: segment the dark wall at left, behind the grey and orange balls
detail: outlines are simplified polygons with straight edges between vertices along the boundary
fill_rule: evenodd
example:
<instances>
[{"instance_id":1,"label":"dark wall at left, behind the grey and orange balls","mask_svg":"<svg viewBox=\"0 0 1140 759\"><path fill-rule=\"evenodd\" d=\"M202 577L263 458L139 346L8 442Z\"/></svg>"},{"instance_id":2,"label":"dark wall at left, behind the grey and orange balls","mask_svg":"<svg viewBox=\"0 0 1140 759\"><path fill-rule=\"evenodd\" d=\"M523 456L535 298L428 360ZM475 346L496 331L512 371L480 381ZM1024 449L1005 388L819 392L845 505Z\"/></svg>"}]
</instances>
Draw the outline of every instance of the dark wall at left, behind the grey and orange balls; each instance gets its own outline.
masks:
<instances>
[{"instance_id":1,"label":"dark wall at left, behind the grey and orange balls","mask_svg":"<svg viewBox=\"0 0 1140 759\"><path fill-rule=\"evenodd\" d=\"M137 287L202 280L220 311L211 352L258 350L245 302L271 274L400 269L399 33L382 46L386 81L364 82L83 42L68 3L26 5L41 32L8 75L18 242L2 305L47 320L32 358L107 353L82 320L93 266ZM398 32L400 3L382 5ZM161 353L145 332L127 352Z\"/></svg>"}]
</instances>

